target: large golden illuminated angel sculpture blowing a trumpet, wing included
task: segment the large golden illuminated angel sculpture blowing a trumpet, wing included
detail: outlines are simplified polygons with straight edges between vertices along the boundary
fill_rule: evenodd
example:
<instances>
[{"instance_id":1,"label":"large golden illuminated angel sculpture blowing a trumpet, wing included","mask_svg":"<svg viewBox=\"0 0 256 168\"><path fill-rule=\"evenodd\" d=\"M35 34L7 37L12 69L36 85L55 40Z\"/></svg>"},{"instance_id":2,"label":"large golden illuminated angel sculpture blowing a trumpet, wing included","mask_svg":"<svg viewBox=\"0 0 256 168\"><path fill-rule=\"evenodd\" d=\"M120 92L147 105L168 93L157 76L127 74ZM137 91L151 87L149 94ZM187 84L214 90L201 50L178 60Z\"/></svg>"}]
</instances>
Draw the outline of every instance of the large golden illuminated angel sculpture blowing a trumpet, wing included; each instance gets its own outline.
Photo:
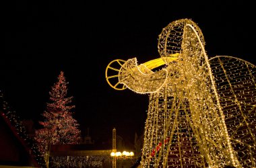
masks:
<instances>
[{"instance_id":1,"label":"large golden illuminated angel sculpture blowing a trumpet, wing included","mask_svg":"<svg viewBox=\"0 0 256 168\"><path fill-rule=\"evenodd\" d=\"M113 88L150 95L143 167L256 167L256 67L231 56L208 59L204 45L199 27L180 19L159 36L161 58L106 68Z\"/></svg>"}]
</instances>

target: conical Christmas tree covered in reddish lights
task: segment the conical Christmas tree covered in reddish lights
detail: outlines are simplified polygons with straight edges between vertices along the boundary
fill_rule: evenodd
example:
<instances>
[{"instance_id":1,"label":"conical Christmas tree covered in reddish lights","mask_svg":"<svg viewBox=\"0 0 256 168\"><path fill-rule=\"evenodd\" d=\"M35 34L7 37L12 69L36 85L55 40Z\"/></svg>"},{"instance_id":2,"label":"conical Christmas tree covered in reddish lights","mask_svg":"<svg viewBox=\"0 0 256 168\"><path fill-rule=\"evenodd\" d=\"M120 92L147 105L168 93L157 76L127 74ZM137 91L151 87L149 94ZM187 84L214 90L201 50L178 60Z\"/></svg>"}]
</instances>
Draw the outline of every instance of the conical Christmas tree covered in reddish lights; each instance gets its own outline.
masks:
<instances>
[{"instance_id":1,"label":"conical Christmas tree covered in reddish lights","mask_svg":"<svg viewBox=\"0 0 256 168\"><path fill-rule=\"evenodd\" d=\"M50 93L51 103L47 103L46 111L42 114L45 120L39 122L42 129L36 130L36 141L44 157L48 157L51 144L77 144L80 138L79 124L73 119L70 106L73 97L67 97L67 82L64 73L58 77Z\"/></svg>"}]
</instances>

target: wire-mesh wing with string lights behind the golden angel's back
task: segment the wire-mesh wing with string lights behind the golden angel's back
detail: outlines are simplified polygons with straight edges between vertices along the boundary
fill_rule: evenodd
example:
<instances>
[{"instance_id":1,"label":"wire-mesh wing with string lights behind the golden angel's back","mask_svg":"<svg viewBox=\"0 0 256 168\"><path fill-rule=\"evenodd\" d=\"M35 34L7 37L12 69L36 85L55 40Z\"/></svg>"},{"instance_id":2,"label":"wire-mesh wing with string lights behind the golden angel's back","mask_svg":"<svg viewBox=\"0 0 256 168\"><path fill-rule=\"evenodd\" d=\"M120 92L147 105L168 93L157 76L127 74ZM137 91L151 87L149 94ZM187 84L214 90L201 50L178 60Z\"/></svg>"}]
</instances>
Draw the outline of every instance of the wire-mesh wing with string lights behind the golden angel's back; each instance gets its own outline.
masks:
<instances>
[{"instance_id":1,"label":"wire-mesh wing with string lights behind the golden angel's back","mask_svg":"<svg viewBox=\"0 0 256 168\"><path fill-rule=\"evenodd\" d=\"M231 56L209 62L234 151L243 167L256 167L256 66Z\"/></svg>"}]
</instances>

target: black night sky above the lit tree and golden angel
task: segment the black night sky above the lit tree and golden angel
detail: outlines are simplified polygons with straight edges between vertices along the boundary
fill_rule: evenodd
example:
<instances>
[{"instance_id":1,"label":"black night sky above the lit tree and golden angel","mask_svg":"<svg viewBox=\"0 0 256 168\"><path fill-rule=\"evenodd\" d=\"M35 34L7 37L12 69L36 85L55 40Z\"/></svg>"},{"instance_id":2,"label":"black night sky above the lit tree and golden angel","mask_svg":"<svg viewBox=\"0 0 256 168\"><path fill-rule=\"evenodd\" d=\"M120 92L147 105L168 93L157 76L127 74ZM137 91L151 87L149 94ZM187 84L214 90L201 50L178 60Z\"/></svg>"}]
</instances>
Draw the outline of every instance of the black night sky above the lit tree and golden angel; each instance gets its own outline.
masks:
<instances>
[{"instance_id":1,"label":"black night sky above the lit tree and golden angel","mask_svg":"<svg viewBox=\"0 0 256 168\"><path fill-rule=\"evenodd\" d=\"M104 73L111 60L159 58L158 35L176 19L192 19L209 58L228 55L256 65L255 9L245 1L8 1L0 89L22 119L42 120L60 71L69 82L74 118L92 136L143 133L148 95L116 91ZM251 1L252 3L252 1Z\"/></svg>"}]
</instances>

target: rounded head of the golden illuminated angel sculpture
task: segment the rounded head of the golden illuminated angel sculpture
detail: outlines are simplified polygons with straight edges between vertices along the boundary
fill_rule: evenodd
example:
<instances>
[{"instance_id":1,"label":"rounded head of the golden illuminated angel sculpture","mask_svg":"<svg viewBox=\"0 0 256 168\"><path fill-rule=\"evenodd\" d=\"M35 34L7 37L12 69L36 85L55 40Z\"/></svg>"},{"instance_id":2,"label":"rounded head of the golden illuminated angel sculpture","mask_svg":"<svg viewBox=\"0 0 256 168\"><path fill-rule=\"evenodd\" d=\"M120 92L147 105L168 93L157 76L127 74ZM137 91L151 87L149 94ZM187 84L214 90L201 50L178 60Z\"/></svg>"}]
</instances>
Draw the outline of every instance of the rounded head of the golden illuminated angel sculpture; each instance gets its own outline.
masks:
<instances>
[{"instance_id":1,"label":"rounded head of the golden illuminated angel sculpture","mask_svg":"<svg viewBox=\"0 0 256 168\"><path fill-rule=\"evenodd\" d=\"M193 50L189 45L196 43L196 38L204 46L203 34L197 24L190 19L179 19L162 30L158 38L158 52L166 65L169 65L173 60L179 59L179 56L184 56L185 48Z\"/></svg>"}]
</instances>

